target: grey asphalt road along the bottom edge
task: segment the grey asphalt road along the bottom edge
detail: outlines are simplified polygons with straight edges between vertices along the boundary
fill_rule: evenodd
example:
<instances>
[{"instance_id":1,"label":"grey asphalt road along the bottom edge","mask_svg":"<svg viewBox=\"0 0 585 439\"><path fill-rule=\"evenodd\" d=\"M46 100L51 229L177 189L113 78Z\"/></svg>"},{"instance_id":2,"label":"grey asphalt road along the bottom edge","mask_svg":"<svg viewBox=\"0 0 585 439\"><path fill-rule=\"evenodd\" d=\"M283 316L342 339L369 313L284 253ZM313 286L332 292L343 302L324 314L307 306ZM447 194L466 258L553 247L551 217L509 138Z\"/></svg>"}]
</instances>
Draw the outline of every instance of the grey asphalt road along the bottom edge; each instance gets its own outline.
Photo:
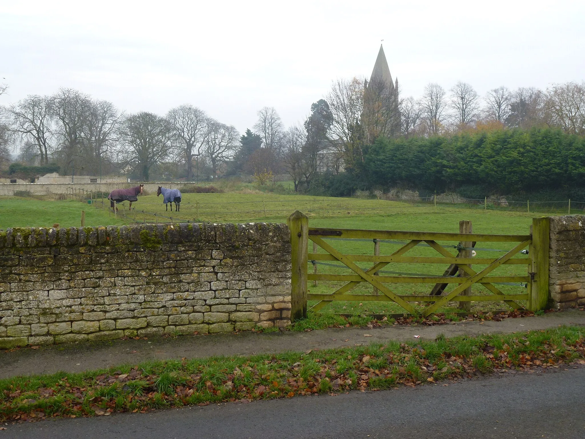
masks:
<instances>
[{"instance_id":1,"label":"grey asphalt road along the bottom edge","mask_svg":"<svg viewBox=\"0 0 585 439\"><path fill-rule=\"evenodd\" d=\"M585 438L585 368L6 426L0 438Z\"/></svg>"}]
</instances>

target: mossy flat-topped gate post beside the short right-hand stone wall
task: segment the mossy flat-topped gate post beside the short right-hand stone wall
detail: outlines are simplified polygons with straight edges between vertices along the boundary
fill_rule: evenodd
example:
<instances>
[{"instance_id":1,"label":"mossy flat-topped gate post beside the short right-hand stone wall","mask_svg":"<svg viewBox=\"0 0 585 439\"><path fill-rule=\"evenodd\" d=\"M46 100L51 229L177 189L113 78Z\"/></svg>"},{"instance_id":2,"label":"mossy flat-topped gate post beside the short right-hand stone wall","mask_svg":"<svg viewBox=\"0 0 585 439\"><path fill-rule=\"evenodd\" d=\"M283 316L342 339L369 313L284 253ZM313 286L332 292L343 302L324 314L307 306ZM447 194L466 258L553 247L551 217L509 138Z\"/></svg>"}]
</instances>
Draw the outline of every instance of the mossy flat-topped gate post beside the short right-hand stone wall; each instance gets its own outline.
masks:
<instances>
[{"instance_id":1,"label":"mossy flat-topped gate post beside the short right-hand stone wall","mask_svg":"<svg viewBox=\"0 0 585 439\"><path fill-rule=\"evenodd\" d=\"M531 294L528 309L546 308L549 299L549 231L550 218L532 218Z\"/></svg>"}]
</instances>

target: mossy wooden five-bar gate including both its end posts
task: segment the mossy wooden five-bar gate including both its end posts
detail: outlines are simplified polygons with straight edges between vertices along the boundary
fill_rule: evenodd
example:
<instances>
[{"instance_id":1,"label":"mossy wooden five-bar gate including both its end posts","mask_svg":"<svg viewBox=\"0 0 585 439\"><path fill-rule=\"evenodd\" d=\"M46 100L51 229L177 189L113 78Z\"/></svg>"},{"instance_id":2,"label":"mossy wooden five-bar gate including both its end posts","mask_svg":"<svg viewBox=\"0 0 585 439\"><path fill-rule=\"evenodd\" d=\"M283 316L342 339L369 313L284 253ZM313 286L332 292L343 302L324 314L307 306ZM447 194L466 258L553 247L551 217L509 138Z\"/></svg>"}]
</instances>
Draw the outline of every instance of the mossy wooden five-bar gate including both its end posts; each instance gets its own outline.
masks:
<instances>
[{"instance_id":1,"label":"mossy wooden five-bar gate including both its end posts","mask_svg":"<svg viewBox=\"0 0 585 439\"><path fill-rule=\"evenodd\" d=\"M404 232L384 230L357 230L336 228L309 227L308 218L299 211L295 211L288 218L288 227L291 231L292 256L292 310L291 320L307 316L307 300L318 300L312 308L315 311L333 300L359 301L393 301L404 308L409 314L419 314L409 302L429 302L422 315L435 313L449 301L503 301L508 306L518 309L522 307L518 301L526 301L528 310L542 310L548 302L548 252L549 252L549 219L534 218L531 234L529 235L485 235L485 234L456 234L437 232ZM344 255L328 242L327 238L342 239L393 239L404 242L400 249L388 256L378 255ZM326 253L309 253L308 242L311 240ZM450 253L437 241L458 242L512 242L514 247L505 252L500 258L469 258L457 257ZM420 243L425 243L439 253L436 257L407 256L410 249ZM528 250L526 252L526 249ZM526 258L512 258L518 253L528 253ZM353 271L351 275L308 273L308 261L337 261ZM369 269L359 267L356 262L371 262ZM424 264L452 264L463 272L463 276L383 276L377 272L389 263L424 263ZM479 272L470 266L486 265ZM524 276L488 276L501 265L525 265ZM465 277L464 277L465 276ZM308 280L342 281L343 286L332 294L309 294ZM348 294L348 291L357 284L367 282L382 294ZM525 282L525 292L521 294L504 294L494 285L497 283ZM455 289L442 295L415 296L399 295L394 293L387 284L393 283L428 283L428 284L458 284ZM470 287L479 283L486 287L491 294L466 295Z\"/></svg>"}]
</instances>

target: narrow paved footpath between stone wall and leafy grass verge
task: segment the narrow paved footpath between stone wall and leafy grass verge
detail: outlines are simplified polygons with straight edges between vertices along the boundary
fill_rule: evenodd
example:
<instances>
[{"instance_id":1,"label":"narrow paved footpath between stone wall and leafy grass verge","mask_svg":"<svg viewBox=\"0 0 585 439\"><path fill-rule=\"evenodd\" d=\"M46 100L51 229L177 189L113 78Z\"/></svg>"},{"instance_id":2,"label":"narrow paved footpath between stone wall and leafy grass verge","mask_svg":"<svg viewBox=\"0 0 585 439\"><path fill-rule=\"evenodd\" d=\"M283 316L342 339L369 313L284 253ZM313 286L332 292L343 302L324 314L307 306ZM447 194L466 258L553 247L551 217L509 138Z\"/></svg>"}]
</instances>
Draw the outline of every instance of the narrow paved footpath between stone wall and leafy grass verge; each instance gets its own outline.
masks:
<instances>
[{"instance_id":1,"label":"narrow paved footpath between stone wall and leafy grass verge","mask_svg":"<svg viewBox=\"0 0 585 439\"><path fill-rule=\"evenodd\" d=\"M541 317L506 318L501 322L463 321L436 326L393 326L386 328L326 329L311 332L198 335L149 340L116 340L100 343L53 345L0 352L0 378L59 371L82 372L150 359L202 358L212 355L248 355L284 351L327 349L390 339L412 340L414 335L435 339L493 332L539 330L558 325L585 325L585 311L549 313ZM364 337L370 334L371 337ZM133 352L135 351L135 352Z\"/></svg>"}]
</instances>

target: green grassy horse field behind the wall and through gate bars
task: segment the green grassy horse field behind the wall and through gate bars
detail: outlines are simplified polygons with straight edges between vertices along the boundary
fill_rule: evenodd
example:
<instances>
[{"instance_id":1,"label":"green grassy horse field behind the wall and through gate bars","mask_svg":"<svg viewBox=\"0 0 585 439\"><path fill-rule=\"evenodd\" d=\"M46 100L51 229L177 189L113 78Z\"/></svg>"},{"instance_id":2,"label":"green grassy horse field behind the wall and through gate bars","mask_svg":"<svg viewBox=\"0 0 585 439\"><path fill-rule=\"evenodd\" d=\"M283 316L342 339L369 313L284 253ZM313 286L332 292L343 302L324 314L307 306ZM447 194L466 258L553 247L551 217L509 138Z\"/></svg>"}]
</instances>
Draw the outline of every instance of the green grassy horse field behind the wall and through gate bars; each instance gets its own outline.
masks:
<instances>
[{"instance_id":1,"label":"green grassy horse field behind the wall and through gate bars","mask_svg":"<svg viewBox=\"0 0 585 439\"><path fill-rule=\"evenodd\" d=\"M529 234L532 218L536 216L527 212L511 212L498 210L481 210L461 205L409 204L398 201L370 200L364 198L332 198L311 197L292 194L262 193L245 188L237 192L219 194L183 194L180 212L165 211L161 197L147 194L133 203L132 211L128 211L128 203L119 206L118 215L108 210L108 200L96 200L97 203L87 204L85 201L63 200L45 201L35 198L0 197L0 229L8 227L51 227L59 223L61 227L79 226L81 211L85 211L85 225L122 225L135 222L181 222L181 221L213 221L213 222L285 222L288 215L300 210L309 217L312 227L355 228L355 229L386 229L433 232L459 232L459 221L467 219L473 223L473 231L483 234ZM155 215L156 214L156 215ZM171 219L172 218L172 219ZM328 239L331 245L345 254L373 255L373 242L336 241ZM456 245L456 242L441 242L443 245ZM479 249L498 249L507 251L514 243L477 243ZM380 244L380 254L390 255L400 245L394 243ZM454 256L456 249L448 249ZM309 251L312 251L309 243ZM318 251L324 252L324 251ZM478 258L497 258L503 252L477 250ZM428 246L417 246L407 253L408 256L439 256ZM521 255L525 257L524 255ZM519 256L516 256L519 257ZM335 262L328 262L334 263ZM363 268L371 264L360 262ZM384 270L403 273L424 273L426 275L442 275L446 264L410 264L391 263ZM484 266L475 265L479 271ZM309 263L309 272L313 265ZM342 267L318 265L319 273L350 274L350 270ZM525 265L503 265L491 275L525 275ZM384 274L384 273L381 273ZM342 282L309 282L311 293L332 293ZM397 294L428 294L432 284L388 284ZM450 286L447 291L454 286ZM497 285L505 294L525 293L522 286ZM487 290L483 286L473 287L473 294L483 294ZM372 294L373 287L361 283L350 291L350 294ZM381 293L380 293L381 294ZM309 307L312 306L309 301ZM453 307L444 311L455 311ZM422 304L415 304L421 308ZM503 303L473 303L474 310L505 309ZM393 302L367 301L336 301L322 312L350 314L363 313L401 313L403 310Z\"/></svg>"}]
</instances>

